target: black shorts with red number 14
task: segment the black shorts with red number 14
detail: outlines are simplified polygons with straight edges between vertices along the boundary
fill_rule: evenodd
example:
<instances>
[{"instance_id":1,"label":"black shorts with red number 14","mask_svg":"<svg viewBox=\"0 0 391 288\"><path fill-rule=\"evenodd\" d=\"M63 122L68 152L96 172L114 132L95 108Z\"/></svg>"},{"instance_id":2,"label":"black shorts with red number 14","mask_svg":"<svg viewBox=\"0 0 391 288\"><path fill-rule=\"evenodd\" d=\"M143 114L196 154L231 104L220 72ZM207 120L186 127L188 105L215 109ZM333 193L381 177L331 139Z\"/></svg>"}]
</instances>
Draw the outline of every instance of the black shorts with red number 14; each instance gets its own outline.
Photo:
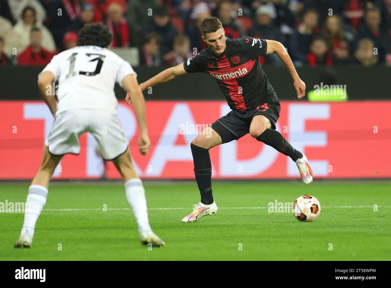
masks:
<instances>
[{"instance_id":1,"label":"black shorts with red number 14","mask_svg":"<svg viewBox=\"0 0 391 288\"><path fill-rule=\"evenodd\" d=\"M264 115L269 119L271 128L276 129L276 122L280 117L280 101L265 99L258 106L245 111L231 111L215 121L210 127L221 137L222 144L238 140L249 133L250 124L256 115Z\"/></svg>"}]
</instances>

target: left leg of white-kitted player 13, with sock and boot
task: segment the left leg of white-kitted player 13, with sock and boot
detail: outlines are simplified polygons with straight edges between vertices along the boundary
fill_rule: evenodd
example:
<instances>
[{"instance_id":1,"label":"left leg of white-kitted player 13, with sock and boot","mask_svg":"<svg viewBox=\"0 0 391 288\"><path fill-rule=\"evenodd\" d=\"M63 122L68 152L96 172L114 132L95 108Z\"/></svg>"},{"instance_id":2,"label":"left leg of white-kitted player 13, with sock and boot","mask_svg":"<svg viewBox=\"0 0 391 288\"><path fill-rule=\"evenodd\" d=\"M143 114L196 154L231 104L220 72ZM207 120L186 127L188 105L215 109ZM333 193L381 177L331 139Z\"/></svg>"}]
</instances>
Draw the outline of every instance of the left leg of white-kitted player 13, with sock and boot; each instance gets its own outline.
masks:
<instances>
[{"instance_id":1,"label":"left leg of white-kitted player 13, with sock and boot","mask_svg":"<svg viewBox=\"0 0 391 288\"><path fill-rule=\"evenodd\" d=\"M34 237L35 224L46 203L50 178L52 178L54 169L56 169L61 157L62 155L50 154L47 146L43 148L41 165L31 182L29 193L27 194L23 228L14 247L30 248L32 238Z\"/></svg>"}]
</instances>

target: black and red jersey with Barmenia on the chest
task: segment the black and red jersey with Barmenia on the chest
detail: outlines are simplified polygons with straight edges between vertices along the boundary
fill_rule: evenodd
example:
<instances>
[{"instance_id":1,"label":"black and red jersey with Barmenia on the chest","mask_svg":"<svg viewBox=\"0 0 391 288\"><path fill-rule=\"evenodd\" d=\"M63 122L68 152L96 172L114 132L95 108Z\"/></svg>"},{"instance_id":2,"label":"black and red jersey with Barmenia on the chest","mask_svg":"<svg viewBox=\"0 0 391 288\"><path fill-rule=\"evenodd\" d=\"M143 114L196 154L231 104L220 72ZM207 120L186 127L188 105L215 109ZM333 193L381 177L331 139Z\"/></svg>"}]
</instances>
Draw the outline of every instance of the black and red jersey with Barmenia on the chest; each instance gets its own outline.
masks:
<instances>
[{"instance_id":1,"label":"black and red jersey with Barmenia on the chest","mask_svg":"<svg viewBox=\"0 0 391 288\"><path fill-rule=\"evenodd\" d=\"M266 54L266 41L242 37L225 43L219 56L208 48L185 61L186 72L204 72L215 78L232 110L244 111L268 98L278 100L258 61L258 56Z\"/></svg>"}]
</instances>

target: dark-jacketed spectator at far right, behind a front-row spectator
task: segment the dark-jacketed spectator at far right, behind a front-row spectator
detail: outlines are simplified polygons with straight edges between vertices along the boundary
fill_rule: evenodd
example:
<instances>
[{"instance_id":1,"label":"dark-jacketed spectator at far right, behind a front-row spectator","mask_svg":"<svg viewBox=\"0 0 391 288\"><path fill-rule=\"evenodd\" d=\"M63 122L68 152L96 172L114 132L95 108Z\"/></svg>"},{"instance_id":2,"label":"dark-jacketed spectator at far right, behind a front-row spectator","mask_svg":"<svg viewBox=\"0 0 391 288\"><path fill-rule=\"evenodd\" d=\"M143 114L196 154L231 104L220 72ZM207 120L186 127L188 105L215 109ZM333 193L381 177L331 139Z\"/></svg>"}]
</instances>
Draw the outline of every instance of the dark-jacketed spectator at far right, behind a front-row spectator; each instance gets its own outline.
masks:
<instances>
[{"instance_id":1,"label":"dark-jacketed spectator at far right, behind a front-row spectator","mask_svg":"<svg viewBox=\"0 0 391 288\"><path fill-rule=\"evenodd\" d=\"M365 22L362 23L353 40L353 50L357 49L357 44L363 38L371 39L374 47L377 48L379 62L384 63L386 52L389 51L391 40L390 34L380 27L381 14L376 7L368 9L365 14Z\"/></svg>"}]
</instances>

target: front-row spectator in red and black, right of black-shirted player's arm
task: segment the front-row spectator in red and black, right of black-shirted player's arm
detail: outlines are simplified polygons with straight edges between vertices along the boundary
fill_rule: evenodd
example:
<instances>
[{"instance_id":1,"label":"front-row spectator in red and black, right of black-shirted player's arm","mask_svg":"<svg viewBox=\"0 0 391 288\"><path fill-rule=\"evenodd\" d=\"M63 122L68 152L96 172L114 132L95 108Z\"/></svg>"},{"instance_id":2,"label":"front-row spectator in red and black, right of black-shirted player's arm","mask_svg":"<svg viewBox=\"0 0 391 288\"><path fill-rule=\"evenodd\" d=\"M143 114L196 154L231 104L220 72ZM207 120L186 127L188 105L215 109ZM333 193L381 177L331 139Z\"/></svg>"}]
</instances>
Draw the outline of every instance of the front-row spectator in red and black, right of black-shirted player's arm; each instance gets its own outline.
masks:
<instances>
[{"instance_id":1,"label":"front-row spectator in red and black, right of black-shirted player's arm","mask_svg":"<svg viewBox=\"0 0 391 288\"><path fill-rule=\"evenodd\" d=\"M327 49L326 41L321 35L314 37L314 40L312 40L307 61L311 67L319 65L333 66L331 52Z\"/></svg>"}]
</instances>

